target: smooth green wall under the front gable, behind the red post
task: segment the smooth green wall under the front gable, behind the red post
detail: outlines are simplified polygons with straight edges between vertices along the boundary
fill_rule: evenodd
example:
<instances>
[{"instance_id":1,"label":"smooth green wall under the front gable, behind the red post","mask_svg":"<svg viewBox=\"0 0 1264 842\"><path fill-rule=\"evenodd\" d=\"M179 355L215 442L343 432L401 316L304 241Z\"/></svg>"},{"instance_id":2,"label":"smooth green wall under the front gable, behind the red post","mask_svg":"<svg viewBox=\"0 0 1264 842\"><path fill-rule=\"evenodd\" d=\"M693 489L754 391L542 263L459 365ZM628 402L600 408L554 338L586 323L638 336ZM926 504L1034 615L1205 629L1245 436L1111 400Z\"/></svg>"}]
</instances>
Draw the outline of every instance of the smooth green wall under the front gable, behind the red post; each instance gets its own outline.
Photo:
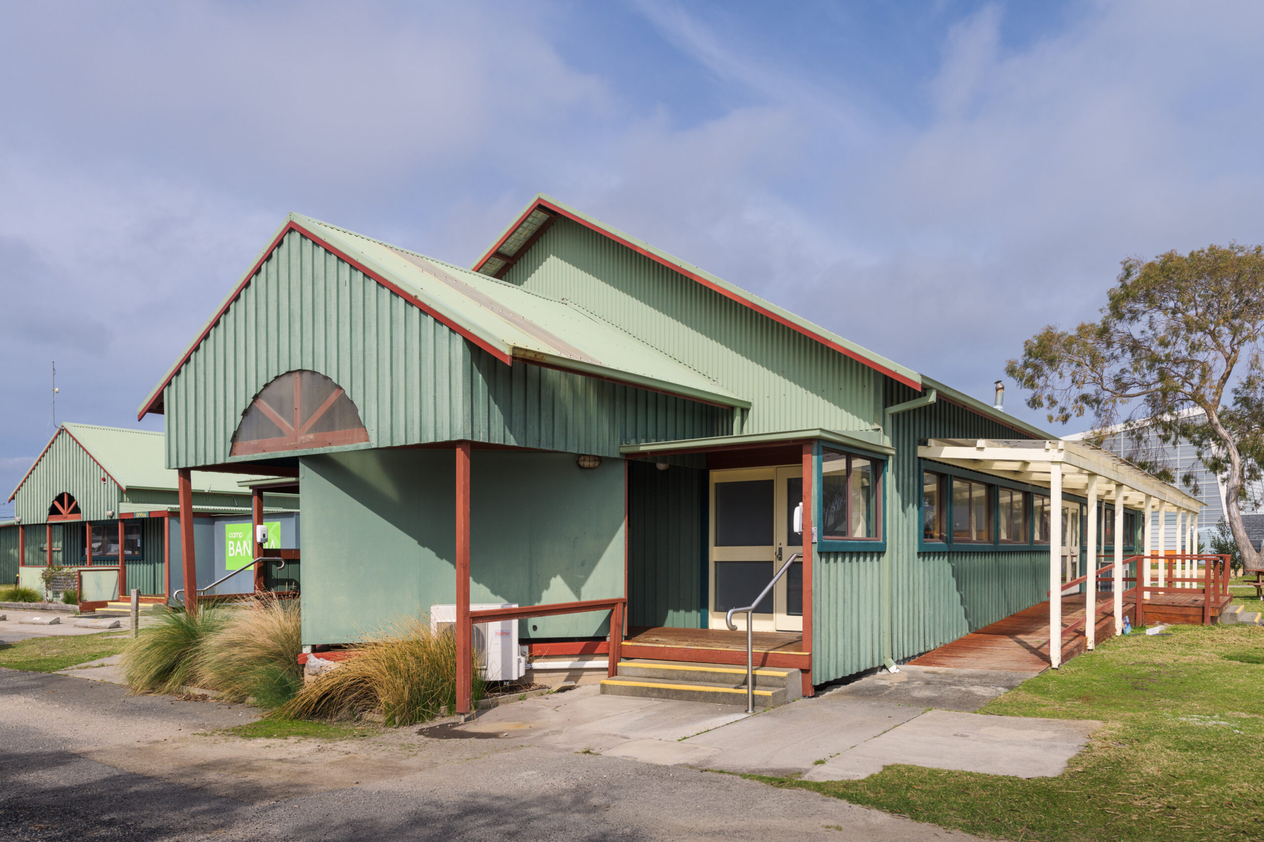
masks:
<instances>
[{"instance_id":1,"label":"smooth green wall under the front gable, behind the red post","mask_svg":"<svg viewBox=\"0 0 1264 842\"><path fill-rule=\"evenodd\" d=\"M451 449L303 457L302 639L348 643L456 597ZM470 601L521 606L623 596L623 461L474 451ZM533 617L530 637L603 636L609 612Z\"/></svg>"}]
</instances>

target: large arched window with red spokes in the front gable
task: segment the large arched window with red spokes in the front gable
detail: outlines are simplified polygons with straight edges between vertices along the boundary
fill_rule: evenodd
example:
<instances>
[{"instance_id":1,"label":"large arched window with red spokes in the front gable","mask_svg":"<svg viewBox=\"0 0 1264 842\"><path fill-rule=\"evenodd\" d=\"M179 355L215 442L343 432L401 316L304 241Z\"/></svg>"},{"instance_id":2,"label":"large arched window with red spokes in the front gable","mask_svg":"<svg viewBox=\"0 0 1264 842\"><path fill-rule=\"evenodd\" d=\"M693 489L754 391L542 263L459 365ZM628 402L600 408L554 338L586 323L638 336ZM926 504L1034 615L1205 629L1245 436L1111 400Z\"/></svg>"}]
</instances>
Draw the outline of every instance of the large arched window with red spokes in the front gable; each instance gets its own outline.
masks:
<instances>
[{"instance_id":1,"label":"large arched window with red spokes in the front gable","mask_svg":"<svg viewBox=\"0 0 1264 842\"><path fill-rule=\"evenodd\" d=\"M255 395L233 436L233 456L337 447L369 441L360 410L316 371L289 371Z\"/></svg>"}]
</instances>

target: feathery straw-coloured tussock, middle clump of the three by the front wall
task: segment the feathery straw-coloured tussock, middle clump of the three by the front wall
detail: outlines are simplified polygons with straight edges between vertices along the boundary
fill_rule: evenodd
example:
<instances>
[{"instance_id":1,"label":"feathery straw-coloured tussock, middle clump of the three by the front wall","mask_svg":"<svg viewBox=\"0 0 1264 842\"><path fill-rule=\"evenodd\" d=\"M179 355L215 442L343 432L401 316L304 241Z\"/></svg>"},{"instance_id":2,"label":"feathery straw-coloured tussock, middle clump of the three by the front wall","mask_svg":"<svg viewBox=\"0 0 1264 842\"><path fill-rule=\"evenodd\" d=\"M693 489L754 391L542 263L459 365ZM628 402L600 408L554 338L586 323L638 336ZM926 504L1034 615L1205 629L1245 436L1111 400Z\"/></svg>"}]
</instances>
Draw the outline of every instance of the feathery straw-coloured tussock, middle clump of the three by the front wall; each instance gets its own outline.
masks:
<instances>
[{"instance_id":1,"label":"feathery straw-coloured tussock, middle clump of the three by the front wall","mask_svg":"<svg viewBox=\"0 0 1264 842\"><path fill-rule=\"evenodd\" d=\"M303 685L298 601L264 595L230 614L201 644L204 685L265 708L288 702Z\"/></svg>"}]
</instances>

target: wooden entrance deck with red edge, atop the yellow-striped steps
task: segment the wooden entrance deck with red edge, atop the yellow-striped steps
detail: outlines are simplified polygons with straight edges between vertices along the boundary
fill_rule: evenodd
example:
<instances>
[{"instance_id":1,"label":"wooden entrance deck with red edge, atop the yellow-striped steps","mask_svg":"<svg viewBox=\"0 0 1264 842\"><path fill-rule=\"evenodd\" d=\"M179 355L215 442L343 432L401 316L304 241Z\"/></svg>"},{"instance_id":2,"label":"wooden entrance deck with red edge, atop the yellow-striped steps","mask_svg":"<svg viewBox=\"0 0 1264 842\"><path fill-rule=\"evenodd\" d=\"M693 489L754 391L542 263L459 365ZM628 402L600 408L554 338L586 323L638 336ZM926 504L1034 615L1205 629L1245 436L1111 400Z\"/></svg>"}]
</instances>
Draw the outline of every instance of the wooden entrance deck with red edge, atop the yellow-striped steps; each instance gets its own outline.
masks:
<instances>
[{"instance_id":1,"label":"wooden entrance deck with red edge, atop the yellow-striped steps","mask_svg":"<svg viewBox=\"0 0 1264 842\"><path fill-rule=\"evenodd\" d=\"M811 653L804 651L803 635L789 631L756 631L752 636L756 667L808 669ZM703 664L746 664L746 632L727 629L628 629L623 658L685 660Z\"/></svg>"}]
</instances>

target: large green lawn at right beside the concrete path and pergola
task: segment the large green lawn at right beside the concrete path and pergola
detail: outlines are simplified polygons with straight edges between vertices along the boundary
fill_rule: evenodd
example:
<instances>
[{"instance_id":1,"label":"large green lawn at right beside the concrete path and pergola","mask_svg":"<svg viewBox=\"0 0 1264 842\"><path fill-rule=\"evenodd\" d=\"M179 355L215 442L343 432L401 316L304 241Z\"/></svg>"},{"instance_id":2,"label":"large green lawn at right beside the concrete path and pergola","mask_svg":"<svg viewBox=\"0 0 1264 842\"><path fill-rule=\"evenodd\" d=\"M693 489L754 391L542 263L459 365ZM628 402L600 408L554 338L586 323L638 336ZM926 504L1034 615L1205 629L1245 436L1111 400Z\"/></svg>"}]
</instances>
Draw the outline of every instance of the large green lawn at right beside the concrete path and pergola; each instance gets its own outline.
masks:
<instances>
[{"instance_id":1,"label":"large green lawn at right beside the concrete path and pergola","mask_svg":"<svg viewBox=\"0 0 1264 842\"><path fill-rule=\"evenodd\" d=\"M1109 640L982 713L1101 720L1058 778L887 766L865 780L760 778L1023 842L1264 838L1264 627Z\"/></svg>"}]
</instances>

